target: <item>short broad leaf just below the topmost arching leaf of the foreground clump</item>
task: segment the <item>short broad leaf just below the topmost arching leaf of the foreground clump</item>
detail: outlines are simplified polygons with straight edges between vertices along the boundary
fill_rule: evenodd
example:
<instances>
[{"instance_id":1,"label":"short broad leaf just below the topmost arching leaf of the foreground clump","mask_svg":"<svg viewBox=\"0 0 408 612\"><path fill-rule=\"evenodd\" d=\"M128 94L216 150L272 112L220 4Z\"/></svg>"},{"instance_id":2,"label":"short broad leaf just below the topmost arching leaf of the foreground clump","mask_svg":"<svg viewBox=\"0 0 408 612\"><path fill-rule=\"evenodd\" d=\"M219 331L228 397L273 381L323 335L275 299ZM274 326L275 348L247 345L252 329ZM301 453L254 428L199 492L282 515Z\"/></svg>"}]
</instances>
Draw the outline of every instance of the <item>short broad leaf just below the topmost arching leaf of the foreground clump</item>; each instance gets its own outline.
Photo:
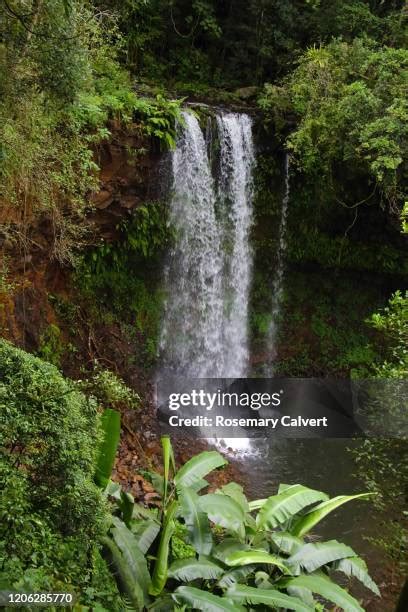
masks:
<instances>
[{"instance_id":1,"label":"short broad leaf just below the topmost arching leaf of the foreground clump","mask_svg":"<svg viewBox=\"0 0 408 612\"><path fill-rule=\"evenodd\" d=\"M243 538L245 536L245 513L236 501L218 493L199 497L199 509L205 512L215 525L224 527Z\"/></svg>"}]
</instances>

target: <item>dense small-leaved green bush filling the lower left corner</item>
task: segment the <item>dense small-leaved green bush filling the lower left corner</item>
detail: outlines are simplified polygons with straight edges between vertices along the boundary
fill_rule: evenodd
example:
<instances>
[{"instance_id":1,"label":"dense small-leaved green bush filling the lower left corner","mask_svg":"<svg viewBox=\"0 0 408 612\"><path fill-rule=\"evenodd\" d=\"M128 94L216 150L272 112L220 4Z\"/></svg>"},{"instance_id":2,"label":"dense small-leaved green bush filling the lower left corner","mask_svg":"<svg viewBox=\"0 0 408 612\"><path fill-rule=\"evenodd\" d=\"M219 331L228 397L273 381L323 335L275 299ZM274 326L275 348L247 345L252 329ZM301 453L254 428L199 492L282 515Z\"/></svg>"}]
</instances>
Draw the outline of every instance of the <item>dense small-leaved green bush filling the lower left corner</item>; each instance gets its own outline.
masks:
<instances>
[{"instance_id":1,"label":"dense small-leaved green bush filling the lower left corner","mask_svg":"<svg viewBox=\"0 0 408 612\"><path fill-rule=\"evenodd\" d=\"M2 340L0 408L1 588L117 599L98 553L108 515L93 482L95 402Z\"/></svg>"}]
</instances>

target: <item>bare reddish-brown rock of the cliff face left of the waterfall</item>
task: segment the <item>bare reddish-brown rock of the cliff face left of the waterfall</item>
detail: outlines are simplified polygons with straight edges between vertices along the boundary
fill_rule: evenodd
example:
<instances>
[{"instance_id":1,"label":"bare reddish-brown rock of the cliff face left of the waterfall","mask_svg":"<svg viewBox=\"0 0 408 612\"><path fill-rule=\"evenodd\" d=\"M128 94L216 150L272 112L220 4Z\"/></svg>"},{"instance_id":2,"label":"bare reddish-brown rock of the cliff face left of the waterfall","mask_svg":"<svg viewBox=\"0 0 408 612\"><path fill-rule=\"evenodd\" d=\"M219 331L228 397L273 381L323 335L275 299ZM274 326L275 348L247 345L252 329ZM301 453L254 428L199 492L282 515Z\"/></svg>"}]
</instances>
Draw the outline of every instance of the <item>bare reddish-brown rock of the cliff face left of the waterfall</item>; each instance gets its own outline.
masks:
<instances>
[{"instance_id":1,"label":"bare reddish-brown rock of the cliff face left of the waterfall","mask_svg":"<svg viewBox=\"0 0 408 612\"><path fill-rule=\"evenodd\" d=\"M160 151L140 136L137 125L125 130L112 122L109 127L111 138L94 152L100 168L99 189L90 194L89 209L78 226L78 233L83 233L82 251L102 241L114 242L123 220L130 218L141 203L158 195ZM58 312L59 302L70 303L78 312L82 306L77 288L71 283L72 262L62 263L54 256L55 219L43 216L30 226L29 238L24 239L23 229L20 235L18 231L21 220L12 218L10 207L2 203L0 222L13 223L18 236L13 242L0 242L0 335L34 352L44 342L63 343L67 334ZM73 257L79 252L74 252ZM93 341L87 338L87 313L81 312L77 319L79 345L84 345L89 359L94 351ZM48 337L50 329L59 330L54 333L58 338ZM104 345L106 333L105 330L102 335ZM75 357L74 350L72 356ZM76 360L79 364L79 356ZM70 373L72 369L76 368L68 367Z\"/></svg>"}]
</instances>

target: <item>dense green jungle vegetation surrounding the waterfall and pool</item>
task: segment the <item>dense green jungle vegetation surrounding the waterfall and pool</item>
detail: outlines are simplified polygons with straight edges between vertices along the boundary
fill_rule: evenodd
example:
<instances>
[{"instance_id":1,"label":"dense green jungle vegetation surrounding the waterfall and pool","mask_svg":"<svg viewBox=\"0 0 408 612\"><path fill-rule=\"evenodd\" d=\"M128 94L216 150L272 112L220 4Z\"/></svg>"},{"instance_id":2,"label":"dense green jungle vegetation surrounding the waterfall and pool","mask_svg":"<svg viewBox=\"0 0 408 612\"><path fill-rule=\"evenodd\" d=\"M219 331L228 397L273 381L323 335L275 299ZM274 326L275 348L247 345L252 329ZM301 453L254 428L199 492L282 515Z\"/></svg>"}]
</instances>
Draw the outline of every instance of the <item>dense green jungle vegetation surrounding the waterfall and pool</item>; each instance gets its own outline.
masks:
<instances>
[{"instance_id":1,"label":"dense green jungle vegetation surrounding the waterfall and pool","mask_svg":"<svg viewBox=\"0 0 408 612\"><path fill-rule=\"evenodd\" d=\"M350 547L314 539L351 496L202 494L225 460L177 471L167 439L162 465L132 464L144 497L112 469L150 401L172 236L147 183L187 101L254 117L254 354L287 150L278 373L407 377L407 16L400 0L0 0L0 590L70 591L78 610L362 610L341 572L378 593ZM355 457L398 575L406 452L366 440Z\"/></svg>"}]
</instances>

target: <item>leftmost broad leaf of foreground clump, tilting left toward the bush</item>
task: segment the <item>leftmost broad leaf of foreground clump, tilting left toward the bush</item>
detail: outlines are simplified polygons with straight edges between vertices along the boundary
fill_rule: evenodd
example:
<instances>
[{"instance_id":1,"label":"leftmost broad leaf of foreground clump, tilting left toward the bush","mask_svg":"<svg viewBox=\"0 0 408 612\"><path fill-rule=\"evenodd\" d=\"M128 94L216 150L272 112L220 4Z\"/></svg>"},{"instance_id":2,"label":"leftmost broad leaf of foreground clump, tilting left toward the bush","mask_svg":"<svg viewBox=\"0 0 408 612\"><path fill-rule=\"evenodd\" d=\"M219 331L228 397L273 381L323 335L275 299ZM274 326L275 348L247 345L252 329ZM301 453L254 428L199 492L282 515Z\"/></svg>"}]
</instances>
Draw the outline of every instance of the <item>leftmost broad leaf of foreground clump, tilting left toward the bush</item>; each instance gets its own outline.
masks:
<instances>
[{"instance_id":1,"label":"leftmost broad leaf of foreground clump, tilting left toward the bush","mask_svg":"<svg viewBox=\"0 0 408 612\"><path fill-rule=\"evenodd\" d=\"M113 517L112 537L121 551L132 578L140 586L145 602L148 600L150 587L150 575L147 569L147 561L137 545L136 538L126 525L117 517Z\"/></svg>"}]
</instances>

